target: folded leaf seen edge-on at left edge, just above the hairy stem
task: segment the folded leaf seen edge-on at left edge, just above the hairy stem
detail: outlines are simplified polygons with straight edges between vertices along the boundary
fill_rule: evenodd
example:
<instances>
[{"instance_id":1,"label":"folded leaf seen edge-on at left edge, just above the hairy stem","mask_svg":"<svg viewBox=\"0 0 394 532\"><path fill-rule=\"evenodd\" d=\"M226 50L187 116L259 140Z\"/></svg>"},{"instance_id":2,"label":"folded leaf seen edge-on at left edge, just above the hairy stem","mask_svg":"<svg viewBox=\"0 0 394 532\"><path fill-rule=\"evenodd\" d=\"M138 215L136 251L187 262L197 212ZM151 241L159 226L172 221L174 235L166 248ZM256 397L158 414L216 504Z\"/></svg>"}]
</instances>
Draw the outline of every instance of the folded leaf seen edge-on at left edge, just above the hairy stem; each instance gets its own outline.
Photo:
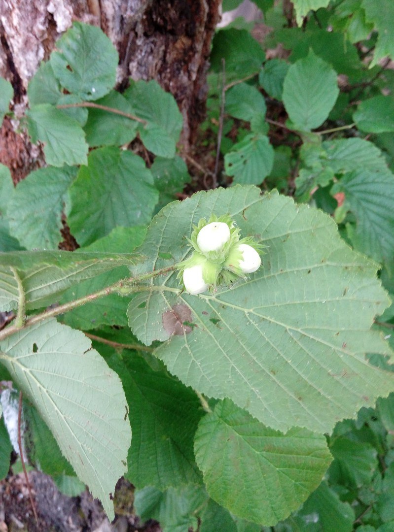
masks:
<instances>
[{"instance_id":1,"label":"folded leaf seen edge-on at left edge, just above the hairy stem","mask_svg":"<svg viewBox=\"0 0 394 532\"><path fill-rule=\"evenodd\" d=\"M54 303L54 296L119 266L129 266L136 255L41 251L0 253L0 308L17 307L19 285L24 290L27 309Z\"/></svg>"}]
</instances>

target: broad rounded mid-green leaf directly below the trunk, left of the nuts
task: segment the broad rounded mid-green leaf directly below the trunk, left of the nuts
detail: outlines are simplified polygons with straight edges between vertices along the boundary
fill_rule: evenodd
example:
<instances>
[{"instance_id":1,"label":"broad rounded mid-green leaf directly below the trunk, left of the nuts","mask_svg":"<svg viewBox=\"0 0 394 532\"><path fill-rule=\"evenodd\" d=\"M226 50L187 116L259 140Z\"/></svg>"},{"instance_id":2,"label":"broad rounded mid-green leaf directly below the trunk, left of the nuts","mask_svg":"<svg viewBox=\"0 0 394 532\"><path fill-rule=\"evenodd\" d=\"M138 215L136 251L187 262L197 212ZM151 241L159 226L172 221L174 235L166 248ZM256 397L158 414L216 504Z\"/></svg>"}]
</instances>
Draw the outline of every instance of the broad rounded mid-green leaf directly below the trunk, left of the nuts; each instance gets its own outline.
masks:
<instances>
[{"instance_id":1,"label":"broad rounded mid-green leaf directly below the trunk, left of the nuts","mask_svg":"<svg viewBox=\"0 0 394 532\"><path fill-rule=\"evenodd\" d=\"M116 147L96 149L70 187L71 232L83 246L116 226L148 223L158 197L141 157Z\"/></svg>"}]
</instances>

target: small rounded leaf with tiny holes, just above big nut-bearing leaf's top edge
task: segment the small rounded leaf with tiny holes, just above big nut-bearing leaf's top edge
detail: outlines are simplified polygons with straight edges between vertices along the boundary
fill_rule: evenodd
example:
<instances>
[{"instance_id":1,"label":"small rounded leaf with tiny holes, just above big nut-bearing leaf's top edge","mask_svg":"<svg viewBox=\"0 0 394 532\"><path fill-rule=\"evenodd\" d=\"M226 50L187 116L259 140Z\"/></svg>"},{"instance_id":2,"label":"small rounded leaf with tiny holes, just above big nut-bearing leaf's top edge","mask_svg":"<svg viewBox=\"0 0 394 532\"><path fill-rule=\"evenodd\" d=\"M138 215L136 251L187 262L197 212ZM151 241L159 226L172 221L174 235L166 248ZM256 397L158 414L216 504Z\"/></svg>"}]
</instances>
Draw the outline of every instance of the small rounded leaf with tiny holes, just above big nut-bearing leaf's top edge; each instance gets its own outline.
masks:
<instances>
[{"instance_id":1,"label":"small rounded leaf with tiny holes, just above big nut-bearing leaf's top edge","mask_svg":"<svg viewBox=\"0 0 394 532\"><path fill-rule=\"evenodd\" d=\"M224 156L228 176L234 183L260 185L274 164L274 148L266 135L247 135Z\"/></svg>"}]
</instances>

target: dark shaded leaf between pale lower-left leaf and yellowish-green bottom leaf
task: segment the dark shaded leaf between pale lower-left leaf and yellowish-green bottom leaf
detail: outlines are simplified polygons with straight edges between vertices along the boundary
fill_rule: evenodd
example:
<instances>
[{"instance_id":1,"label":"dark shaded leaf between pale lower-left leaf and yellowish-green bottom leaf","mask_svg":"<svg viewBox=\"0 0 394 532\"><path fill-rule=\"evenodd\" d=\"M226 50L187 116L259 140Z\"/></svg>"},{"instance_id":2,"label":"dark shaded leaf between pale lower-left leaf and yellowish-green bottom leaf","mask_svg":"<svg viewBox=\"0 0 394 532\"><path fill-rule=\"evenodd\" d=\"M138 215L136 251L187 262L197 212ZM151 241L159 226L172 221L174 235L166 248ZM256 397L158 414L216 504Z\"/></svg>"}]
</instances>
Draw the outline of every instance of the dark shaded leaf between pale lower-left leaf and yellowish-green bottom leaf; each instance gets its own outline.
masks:
<instances>
[{"instance_id":1,"label":"dark shaded leaf between pale lower-left leaf and yellowish-green bottom leaf","mask_svg":"<svg viewBox=\"0 0 394 532\"><path fill-rule=\"evenodd\" d=\"M142 488L162 491L182 484L200 484L193 438L203 414L192 389L162 369L153 371L141 356L124 352L109 361L118 373L130 405L133 443L127 478Z\"/></svg>"}]
</instances>

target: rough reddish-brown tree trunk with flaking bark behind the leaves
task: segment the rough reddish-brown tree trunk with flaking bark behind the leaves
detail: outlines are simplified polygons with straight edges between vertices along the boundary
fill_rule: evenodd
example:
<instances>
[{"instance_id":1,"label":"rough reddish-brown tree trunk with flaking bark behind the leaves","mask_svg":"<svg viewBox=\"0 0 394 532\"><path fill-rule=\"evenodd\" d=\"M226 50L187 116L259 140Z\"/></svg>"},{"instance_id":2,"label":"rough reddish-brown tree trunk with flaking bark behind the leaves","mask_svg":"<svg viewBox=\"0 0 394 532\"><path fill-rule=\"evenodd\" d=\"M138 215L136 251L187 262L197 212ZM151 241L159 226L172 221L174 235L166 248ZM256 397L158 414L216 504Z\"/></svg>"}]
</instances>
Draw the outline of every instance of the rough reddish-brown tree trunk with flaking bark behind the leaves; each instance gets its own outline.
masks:
<instances>
[{"instance_id":1,"label":"rough reddish-brown tree trunk with flaking bark behind the leaves","mask_svg":"<svg viewBox=\"0 0 394 532\"><path fill-rule=\"evenodd\" d=\"M40 61L73 21L100 26L119 53L118 86L128 77L156 79L171 92L183 114L180 138L187 151L204 117L210 43L220 0L2 0L0 76L14 88L14 110L26 108L26 89ZM42 165L42 154L6 119L0 161L14 180Z\"/></svg>"}]
</instances>

